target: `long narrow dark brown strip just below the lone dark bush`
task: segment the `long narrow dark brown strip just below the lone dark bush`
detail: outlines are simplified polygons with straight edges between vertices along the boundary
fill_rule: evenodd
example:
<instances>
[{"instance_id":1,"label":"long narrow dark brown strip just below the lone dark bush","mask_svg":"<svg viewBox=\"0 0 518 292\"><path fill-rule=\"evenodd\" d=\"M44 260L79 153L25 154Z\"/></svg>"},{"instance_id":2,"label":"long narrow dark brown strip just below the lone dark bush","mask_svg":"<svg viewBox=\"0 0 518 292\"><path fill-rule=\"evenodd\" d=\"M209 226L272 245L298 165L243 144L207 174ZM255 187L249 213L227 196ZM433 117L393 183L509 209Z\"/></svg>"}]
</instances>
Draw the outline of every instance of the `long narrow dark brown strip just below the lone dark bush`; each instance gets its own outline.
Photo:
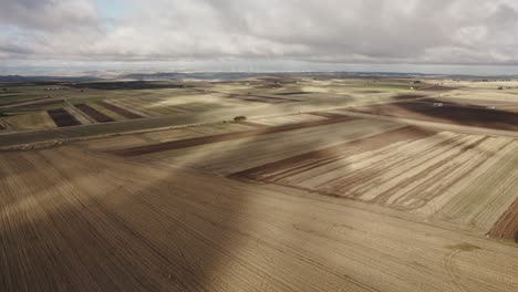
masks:
<instances>
[{"instance_id":1,"label":"long narrow dark brown strip just below the lone dark bush","mask_svg":"<svg viewBox=\"0 0 518 292\"><path fill-rule=\"evenodd\" d=\"M292 125L257 128L257 129L244 131L239 133L221 134L221 135L215 135L215 136L206 136L206 137L184 139L184 140L177 140L177 142L170 142L170 143L155 144L155 145L149 145L149 146L144 146L144 147L127 148L127 149L117 150L114 154L120 155L120 156L139 156L139 155L145 155L145 154L199 146L204 144L255 137L255 136L260 136L260 135L268 135L268 134L300 129L300 128L317 127L317 126L322 126L322 125L338 124L338 123L343 123L343 122L348 122L351 119L353 118L344 116L342 118L334 118L334 119L322 119L322 121L305 122L305 123L292 124Z\"/></svg>"}]
</instances>

